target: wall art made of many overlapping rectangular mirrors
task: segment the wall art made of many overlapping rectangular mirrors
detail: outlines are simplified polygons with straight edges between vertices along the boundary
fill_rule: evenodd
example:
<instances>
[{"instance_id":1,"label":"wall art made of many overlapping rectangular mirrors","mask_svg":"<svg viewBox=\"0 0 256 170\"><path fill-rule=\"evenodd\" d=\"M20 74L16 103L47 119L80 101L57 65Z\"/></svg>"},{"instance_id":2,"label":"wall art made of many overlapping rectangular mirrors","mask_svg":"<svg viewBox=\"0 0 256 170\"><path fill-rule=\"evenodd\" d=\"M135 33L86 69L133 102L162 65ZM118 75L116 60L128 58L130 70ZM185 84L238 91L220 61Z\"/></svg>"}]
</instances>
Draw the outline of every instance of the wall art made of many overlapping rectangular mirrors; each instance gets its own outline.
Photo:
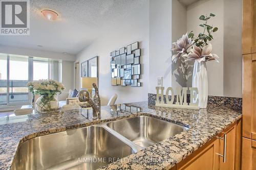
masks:
<instances>
[{"instance_id":1,"label":"wall art made of many overlapping rectangular mirrors","mask_svg":"<svg viewBox=\"0 0 256 170\"><path fill-rule=\"evenodd\" d=\"M110 53L111 85L141 86L140 48L134 42Z\"/></svg>"}]
</instances>

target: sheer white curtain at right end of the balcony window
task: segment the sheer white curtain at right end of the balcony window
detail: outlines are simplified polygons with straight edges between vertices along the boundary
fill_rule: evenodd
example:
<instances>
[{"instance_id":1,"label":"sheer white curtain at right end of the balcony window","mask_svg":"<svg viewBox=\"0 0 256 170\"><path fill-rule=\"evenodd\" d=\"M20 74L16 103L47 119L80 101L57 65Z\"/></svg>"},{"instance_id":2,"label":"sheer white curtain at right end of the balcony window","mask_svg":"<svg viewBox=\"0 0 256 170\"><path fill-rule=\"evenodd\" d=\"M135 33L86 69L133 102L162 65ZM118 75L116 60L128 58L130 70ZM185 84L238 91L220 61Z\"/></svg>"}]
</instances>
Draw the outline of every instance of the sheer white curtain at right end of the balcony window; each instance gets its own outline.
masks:
<instances>
[{"instance_id":1,"label":"sheer white curtain at right end of the balcony window","mask_svg":"<svg viewBox=\"0 0 256 170\"><path fill-rule=\"evenodd\" d=\"M61 82L61 61L49 59L49 79Z\"/></svg>"}]
</instances>

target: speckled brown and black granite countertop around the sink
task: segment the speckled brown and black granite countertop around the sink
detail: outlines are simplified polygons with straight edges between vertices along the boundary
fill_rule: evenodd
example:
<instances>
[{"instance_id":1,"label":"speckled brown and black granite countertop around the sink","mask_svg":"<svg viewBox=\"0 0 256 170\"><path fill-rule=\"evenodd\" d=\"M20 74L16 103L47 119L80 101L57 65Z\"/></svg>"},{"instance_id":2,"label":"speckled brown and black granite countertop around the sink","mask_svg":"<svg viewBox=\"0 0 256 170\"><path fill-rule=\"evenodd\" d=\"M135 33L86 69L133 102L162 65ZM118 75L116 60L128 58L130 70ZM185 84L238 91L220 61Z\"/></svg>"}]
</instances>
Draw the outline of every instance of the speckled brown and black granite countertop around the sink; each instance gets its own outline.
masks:
<instances>
[{"instance_id":1,"label":"speckled brown and black granite countertop around the sink","mask_svg":"<svg viewBox=\"0 0 256 170\"><path fill-rule=\"evenodd\" d=\"M101 107L101 120L93 121L91 115L91 110L77 109L0 118L0 169L9 169L18 144L33 137L136 115L161 118L189 130L101 169L169 169L242 117L241 111L212 104L193 110L155 108L147 102Z\"/></svg>"}]
</instances>

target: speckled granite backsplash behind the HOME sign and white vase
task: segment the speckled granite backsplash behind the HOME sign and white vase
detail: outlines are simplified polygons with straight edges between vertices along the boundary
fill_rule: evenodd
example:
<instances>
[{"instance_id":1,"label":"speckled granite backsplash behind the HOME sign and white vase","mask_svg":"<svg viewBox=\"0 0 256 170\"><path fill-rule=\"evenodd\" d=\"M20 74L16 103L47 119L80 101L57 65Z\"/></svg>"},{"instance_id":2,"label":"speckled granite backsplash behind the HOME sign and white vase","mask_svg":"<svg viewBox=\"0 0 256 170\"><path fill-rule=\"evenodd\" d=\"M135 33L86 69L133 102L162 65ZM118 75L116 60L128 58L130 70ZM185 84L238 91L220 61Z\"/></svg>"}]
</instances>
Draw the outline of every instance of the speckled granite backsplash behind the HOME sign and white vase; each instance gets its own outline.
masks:
<instances>
[{"instance_id":1,"label":"speckled granite backsplash behind the HOME sign and white vase","mask_svg":"<svg viewBox=\"0 0 256 170\"><path fill-rule=\"evenodd\" d=\"M171 96L169 95L169 100ZM156 98L157 94L154 93L148 93L148 104L149 105L155 105L156 104ZM166 103L166 97L163 96L164 103ZM190 95L187 94L187 102L190 100ZM176 95L174 98L174 102L176 102ZM225 96L214 96L214 95L208 95L208 104L216 105L216 106L225 106L229 107L235 110L242 111L242 98L230 98Z\"/></svg>"}]
</instances>

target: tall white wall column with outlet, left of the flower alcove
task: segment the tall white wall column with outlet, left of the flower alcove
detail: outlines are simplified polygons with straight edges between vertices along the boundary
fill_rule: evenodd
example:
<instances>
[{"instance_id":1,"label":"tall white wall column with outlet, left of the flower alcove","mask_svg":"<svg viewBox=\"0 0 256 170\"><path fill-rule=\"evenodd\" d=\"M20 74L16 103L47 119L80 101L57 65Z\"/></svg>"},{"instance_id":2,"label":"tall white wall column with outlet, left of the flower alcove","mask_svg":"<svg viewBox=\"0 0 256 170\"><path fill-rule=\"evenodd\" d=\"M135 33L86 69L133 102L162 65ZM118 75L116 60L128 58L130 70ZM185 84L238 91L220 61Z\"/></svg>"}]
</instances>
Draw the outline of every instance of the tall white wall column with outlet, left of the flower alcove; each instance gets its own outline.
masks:
<instances>
[{"instance_id":1,"label":"tall white wall column with outlet, left of the flower alcove","mask_svg":"<svg viewBox=\"0 0 256 170\"><path fill-rule=\"evenodd\" d=\"M157 77L163 77L163 86L172 85L171 8L172 2L169 0L150 1L150 93L156 93Z\"/></svg>"}]
</instances>

